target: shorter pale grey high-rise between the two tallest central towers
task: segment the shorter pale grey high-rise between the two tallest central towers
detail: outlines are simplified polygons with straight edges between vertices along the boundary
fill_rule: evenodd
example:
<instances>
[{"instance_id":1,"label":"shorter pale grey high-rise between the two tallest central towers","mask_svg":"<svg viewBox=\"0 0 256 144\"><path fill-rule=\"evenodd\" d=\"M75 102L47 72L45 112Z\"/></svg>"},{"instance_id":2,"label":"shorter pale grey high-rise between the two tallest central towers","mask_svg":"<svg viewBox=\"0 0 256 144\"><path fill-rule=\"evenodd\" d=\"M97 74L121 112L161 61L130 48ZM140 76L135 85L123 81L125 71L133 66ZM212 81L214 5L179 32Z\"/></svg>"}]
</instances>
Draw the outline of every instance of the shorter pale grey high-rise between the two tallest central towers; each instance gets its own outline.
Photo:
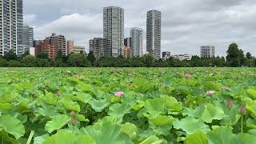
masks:
<instances>
[{"instance_id":1,"label":"shorter pale grey high-rise between the two tallest central towers","mask_svg":"<svg viewBox=\"0 0 256 144\"><path fill-rule=\"evenodd\" d=\"M131 38L131 56L141 57L143 54L143 30L138 27L133 27L130 29Z\"/></svg>"}]
</instances>

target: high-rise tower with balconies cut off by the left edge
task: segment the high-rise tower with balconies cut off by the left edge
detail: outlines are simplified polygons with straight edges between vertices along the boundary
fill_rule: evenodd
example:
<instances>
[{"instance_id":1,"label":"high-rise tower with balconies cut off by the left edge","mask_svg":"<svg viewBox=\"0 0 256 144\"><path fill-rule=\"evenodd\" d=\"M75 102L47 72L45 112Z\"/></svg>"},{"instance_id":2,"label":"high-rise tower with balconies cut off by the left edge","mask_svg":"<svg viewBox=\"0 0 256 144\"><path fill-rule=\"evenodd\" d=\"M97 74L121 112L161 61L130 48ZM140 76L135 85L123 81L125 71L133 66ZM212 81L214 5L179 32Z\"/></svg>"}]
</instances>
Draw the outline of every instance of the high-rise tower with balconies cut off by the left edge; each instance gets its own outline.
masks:
<instances>
[{"instance_id":1,"label":"high-rise tower with balconies cut off by the left edge","mask_svg":"<svg viewBox=\"0 0 256 144\"><path fill-rule=\"evenodd\" d=\"M0 55L13 50L15 54L23 54L22 0L0 0Z\"/></svg>"}]
</instances>

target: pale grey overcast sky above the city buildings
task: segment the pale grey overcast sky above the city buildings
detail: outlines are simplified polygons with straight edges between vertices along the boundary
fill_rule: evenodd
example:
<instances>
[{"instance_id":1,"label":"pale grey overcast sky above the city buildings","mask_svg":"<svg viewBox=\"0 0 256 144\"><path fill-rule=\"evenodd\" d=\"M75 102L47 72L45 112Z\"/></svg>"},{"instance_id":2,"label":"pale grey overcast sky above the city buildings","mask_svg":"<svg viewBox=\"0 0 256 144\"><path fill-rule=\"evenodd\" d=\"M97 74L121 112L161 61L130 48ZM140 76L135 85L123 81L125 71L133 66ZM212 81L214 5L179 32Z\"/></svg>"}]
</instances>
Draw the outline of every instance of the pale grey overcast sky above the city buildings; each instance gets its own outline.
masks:
<instances>
[{"instance_id":1,"label":"pale grey overcast sky above the city buildings","mask_svg":"<svg viewBox=\"0 0 256 144\"><path fill-rule=\"evenodd\" d=\"M162 51L199 54L213 45L226 55L232 42L256 56L256 0L23 0L24 23L34 27L34 38L64 34L76 45L102 37L102 8L125 9L125 37L130 27L141 27L146 41L146 11L162 11ZM146 49L146 43L144 42Z\"/></svg>"}]
</instances>

